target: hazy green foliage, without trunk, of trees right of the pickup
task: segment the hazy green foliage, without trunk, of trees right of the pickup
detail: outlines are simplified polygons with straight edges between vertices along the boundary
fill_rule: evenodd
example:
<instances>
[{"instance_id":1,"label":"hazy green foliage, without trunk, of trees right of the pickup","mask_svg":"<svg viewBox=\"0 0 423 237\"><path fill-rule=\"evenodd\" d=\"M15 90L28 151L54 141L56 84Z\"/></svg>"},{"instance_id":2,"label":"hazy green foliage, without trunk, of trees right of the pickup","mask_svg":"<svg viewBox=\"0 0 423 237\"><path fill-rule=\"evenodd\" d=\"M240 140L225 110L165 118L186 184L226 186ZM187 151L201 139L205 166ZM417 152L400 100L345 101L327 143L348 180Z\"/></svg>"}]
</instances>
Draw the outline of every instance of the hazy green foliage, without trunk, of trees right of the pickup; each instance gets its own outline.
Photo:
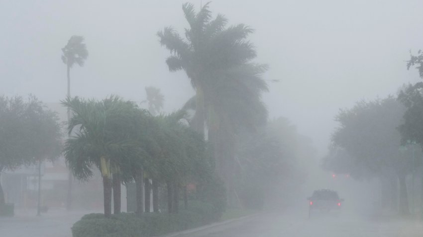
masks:
<instances>
[{"instance_id":1,"label":"hazy green foliage, without trunk, of trees right of the pickup","mask_svg":"<svg viewBox=\"0 0 423 237\"><path fill-rule=\"evenodd\" d=\"M407 174L416 164L412 159L413 144L402 143L398 130L405 109L395 98L388 97L361 101L349 110L341 110L324 165L355 178L380 176L390 170Z\"/></svg>"}]
</instances>

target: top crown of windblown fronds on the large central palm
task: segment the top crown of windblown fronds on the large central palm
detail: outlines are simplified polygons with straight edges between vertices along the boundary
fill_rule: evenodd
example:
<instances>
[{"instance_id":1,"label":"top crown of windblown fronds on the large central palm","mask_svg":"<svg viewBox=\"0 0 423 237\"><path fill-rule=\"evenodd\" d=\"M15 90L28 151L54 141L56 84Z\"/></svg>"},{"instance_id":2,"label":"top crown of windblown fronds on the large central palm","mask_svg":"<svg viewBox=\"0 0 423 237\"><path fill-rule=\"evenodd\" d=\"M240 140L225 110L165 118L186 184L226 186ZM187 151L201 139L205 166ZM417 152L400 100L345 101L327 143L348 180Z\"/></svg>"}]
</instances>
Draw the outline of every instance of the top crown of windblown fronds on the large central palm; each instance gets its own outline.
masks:
<instances>
[{"instance_id":1,"label":"top crown of windblown fronds on the large central palm","mask_svg":"<svg viewBox=\"0 0 423 237\"><path fill-rule=\"evenodd\" d=\"M212 19L209 3L196 13L192 3L182 7L190 29L183 39L172 27L157 33L160 44L171 56L166 59L170 71L185 70L196 88L207 78L205 73L240 65L256 57L254 46L246 40L253 30L238 24L226 28L227 19L218 14Z\"/></svg>"}]
</instances>

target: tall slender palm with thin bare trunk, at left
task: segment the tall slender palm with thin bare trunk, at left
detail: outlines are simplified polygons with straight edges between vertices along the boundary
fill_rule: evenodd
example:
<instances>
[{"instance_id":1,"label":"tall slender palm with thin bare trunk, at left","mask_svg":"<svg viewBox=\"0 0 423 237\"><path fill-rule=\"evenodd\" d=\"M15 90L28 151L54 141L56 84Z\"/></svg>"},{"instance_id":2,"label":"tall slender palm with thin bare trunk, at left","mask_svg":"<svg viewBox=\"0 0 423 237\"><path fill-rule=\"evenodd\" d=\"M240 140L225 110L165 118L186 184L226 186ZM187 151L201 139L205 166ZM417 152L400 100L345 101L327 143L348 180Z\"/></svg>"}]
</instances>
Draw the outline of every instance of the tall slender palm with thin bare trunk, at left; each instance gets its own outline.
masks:
<instances>
[{"instance_id":1,"label":"tall slender palm with thin bare trunk, at left","mask_svg":"<svg viewBox=\"0 0 423 237\"><path fill-rule=\"evenodd\" d=\"M70 70L75 63L79 66L84 66L85 59L88 57L87 46L84 43L84 37L74 35L69 40L65 47L62 48L62 61L67 66L67 77L68 77L68 94L67 97L71 96L71 76ZM71 114L68 109L68 121L70 120ZM68 178L68 196L66 201L66 208L69 210L72 205L72 173L69 172Z\"/></svg>"}]
</instances>

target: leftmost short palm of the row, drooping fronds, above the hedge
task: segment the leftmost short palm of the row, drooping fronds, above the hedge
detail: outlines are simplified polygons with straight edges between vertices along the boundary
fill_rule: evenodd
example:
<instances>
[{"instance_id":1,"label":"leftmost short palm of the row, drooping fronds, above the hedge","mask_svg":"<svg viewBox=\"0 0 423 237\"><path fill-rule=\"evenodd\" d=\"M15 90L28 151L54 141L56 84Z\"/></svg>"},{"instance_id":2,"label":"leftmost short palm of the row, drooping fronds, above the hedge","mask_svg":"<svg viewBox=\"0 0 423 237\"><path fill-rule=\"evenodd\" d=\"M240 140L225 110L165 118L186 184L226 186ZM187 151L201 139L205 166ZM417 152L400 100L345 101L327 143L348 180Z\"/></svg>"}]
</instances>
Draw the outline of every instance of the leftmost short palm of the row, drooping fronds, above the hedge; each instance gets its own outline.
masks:
<instances>
[{"instance_id":1,"label":"leftmost short palm of the row, drooping fronds, above the hedge","mask_svg":"<svg viewBox=\"0 0 423 237\"><path fill-rule=\"evenodd\" d=\"M127 157L137 152L137 144L126 136L131 130L128 112L135 107L117 97L103 101L67 98L62 102L74 114L69 121L68 133L73 134L65 144L65 159L74 176L88 180L93 176L93 166L100 169L104 186L105 215L111 215L112 176L119 174ZM117 182L120 187L120 176ZM117 191L117 192L116 192ZM120 207L120 188L114 198ZM116 200L115 200L116 201ZM115 204L116 206L116 204ZM120 208L115 213L120 212Z\"/></svg>"}]
</instances>

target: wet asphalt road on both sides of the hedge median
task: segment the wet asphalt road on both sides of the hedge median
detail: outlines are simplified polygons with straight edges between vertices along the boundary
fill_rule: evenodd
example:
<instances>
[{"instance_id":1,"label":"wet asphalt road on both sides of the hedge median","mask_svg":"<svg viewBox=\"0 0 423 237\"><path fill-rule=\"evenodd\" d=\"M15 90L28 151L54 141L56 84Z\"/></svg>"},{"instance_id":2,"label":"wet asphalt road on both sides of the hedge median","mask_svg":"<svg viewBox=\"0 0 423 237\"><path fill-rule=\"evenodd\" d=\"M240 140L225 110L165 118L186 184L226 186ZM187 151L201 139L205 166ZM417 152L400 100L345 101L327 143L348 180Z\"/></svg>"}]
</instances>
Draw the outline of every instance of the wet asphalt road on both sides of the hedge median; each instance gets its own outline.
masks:
<instances>
[{"instance_id":1,"label":"wet asphalt road on both sides of the hedge median","mask_svg":"<svg viewBox=\"0 0 423 237\"><path fill-rule=\"evenodd\" d=\"M0 218L0 237L72 237L70 227L88 211L49 211L41 217L35 212ZM254 217L214 225L179 237L423 237L419 221L372 220L360 215L339 217L327 214L308 219L305 212L293 215L258 214Z\"/></svg>"}]
</instances>

